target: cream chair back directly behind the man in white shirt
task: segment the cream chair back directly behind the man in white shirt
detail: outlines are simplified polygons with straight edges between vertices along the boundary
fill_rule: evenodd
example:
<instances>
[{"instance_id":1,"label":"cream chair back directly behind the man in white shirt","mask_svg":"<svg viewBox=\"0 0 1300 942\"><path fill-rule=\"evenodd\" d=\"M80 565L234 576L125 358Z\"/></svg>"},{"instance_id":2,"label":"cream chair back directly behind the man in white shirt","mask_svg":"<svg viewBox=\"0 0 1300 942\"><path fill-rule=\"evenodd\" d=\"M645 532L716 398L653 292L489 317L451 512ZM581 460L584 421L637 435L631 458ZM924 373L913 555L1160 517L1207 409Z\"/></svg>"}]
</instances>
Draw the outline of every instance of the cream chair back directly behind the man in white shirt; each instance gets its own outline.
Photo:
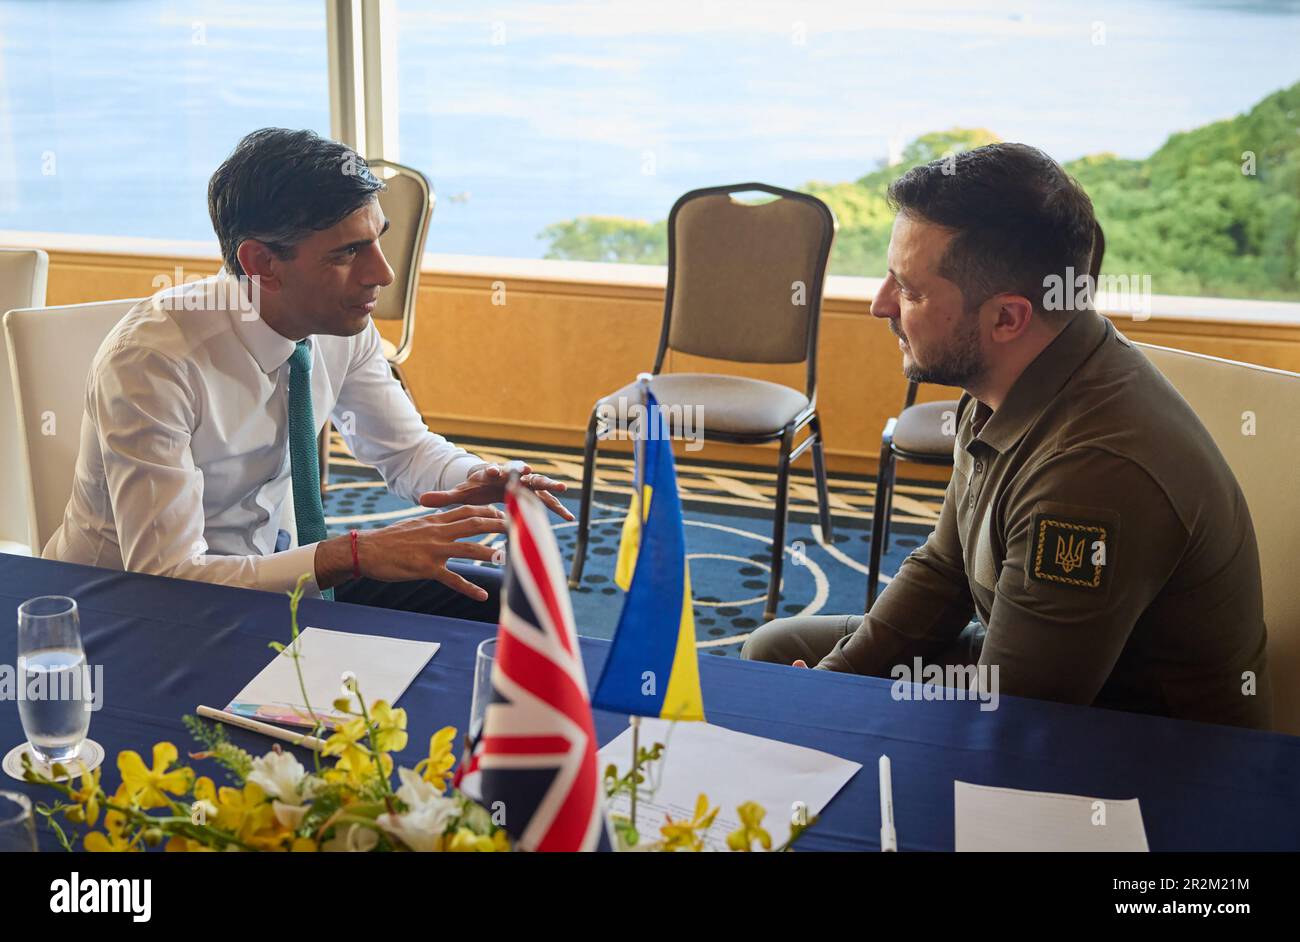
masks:
<instances>
[{"instance_id":1,"label":"cream chair back directly behind the man in white shirt","mask_svg":"<svg viewBox=\"0 0 1300 942\"><path fill-rule=\"evenodd\" d=\"M58 529L73 492L91 361L135 304L139 299L22 308L4 316L34 556Z\"/></svg>"}]
</instances>

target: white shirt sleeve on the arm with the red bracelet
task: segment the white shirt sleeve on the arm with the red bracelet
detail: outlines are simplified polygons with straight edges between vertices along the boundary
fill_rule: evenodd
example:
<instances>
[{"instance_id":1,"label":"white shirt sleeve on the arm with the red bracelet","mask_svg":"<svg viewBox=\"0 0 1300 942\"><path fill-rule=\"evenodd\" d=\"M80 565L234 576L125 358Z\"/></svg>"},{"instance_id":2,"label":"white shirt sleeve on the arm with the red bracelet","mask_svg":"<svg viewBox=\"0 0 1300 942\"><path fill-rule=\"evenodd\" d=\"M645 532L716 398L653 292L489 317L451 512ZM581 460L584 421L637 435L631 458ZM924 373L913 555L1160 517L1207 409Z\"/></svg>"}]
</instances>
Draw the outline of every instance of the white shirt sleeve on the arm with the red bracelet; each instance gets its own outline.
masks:
<instances>
[{"instance_id":1,"label":"white shirt sleeve on the arm with the red bracelet","mask_svg":"<svg viewBox=\"0 0 1300 942\"><path fill-rule=\"evenodd\" d=\"M191 453L198 401L187 366L148 347L110 350L87 388L109 500L130 572L287 591L316 585L316 543L272 556L222 556L204 539L203 472Z\"/></svg>"}]
</instances>

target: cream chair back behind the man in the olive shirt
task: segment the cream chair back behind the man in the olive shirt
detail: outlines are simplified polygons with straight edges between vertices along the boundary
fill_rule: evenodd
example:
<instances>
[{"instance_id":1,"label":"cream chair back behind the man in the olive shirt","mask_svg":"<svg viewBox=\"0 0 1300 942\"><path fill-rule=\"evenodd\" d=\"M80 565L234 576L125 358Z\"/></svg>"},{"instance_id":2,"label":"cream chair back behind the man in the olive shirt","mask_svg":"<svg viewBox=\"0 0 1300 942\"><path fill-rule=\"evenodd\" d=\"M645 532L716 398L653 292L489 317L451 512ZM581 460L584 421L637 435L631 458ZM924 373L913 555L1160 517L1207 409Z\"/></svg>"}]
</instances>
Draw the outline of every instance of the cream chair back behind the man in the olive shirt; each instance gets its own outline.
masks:
<instances>
[{"instance_id":1,"label":"cream chair back behind the man in the olive shirt","mask_svg":"<svg viewBox=\"0 0 1300 942\"><path fill-rule=\"evenodd\" d=\"M1300 735L1300 373L1135 343L1209 430L1251 508L1260 546L1273 724Z\"/></svg>"}]
</instances>

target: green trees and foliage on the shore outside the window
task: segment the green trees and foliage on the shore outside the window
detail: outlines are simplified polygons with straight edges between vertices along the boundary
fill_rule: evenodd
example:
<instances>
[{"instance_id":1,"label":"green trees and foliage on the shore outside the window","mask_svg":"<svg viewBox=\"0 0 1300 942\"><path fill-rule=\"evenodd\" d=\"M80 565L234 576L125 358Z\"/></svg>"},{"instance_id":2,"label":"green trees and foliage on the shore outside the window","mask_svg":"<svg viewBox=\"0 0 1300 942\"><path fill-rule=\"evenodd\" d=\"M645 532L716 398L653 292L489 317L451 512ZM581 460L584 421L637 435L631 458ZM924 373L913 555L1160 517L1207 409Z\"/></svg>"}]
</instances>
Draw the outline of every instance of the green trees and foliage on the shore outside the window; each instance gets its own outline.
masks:
<instances>
[{"instance_id":1,"label":"green trees and foliage on the shore outside the window","mask_svg":"<svg viewBox=\"0 0 1300 942\"><path fill-rule=\"evenodd\" d=\"M893 166L803 190L840 223L832 274L880 275L893 212L889 182L919 164L996 142L950 129L910 142ZM1248 155L1253 155L1253 173ZM1245 114L1170 135L1145 160L1096 153L1065 165L1106 231L1105 273L1152 278L1156 294L1300 300L1300 83ZM584 216L542 231L547 259L667 261L664 222Z\"/></svg>"}]
</instances>

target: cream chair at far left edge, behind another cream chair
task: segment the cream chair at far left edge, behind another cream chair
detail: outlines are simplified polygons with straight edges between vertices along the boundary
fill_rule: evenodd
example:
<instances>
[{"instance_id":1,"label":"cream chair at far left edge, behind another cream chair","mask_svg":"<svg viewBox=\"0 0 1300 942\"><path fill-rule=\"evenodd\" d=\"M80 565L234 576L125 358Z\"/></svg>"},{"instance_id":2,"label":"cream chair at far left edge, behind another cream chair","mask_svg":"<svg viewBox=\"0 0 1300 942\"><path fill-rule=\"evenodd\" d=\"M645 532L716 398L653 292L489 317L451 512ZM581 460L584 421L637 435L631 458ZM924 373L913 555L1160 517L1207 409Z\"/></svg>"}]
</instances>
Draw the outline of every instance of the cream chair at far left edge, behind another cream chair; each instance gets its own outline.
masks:
<instances>
[{"instance_id":1,"label":"cream chair at far left edge, behind another cream chair","mask_svg":"<svg viewBox=\"0 0 1300 942\"><path fill-rule=\"evenodd\" d=\"M0 317L46 303L49 256L39 248L0 248ZM18 444L18 409L9 382L9 356L0 331L0 552L31 555L26 476Z\"/></svg>"}]
</instances>

